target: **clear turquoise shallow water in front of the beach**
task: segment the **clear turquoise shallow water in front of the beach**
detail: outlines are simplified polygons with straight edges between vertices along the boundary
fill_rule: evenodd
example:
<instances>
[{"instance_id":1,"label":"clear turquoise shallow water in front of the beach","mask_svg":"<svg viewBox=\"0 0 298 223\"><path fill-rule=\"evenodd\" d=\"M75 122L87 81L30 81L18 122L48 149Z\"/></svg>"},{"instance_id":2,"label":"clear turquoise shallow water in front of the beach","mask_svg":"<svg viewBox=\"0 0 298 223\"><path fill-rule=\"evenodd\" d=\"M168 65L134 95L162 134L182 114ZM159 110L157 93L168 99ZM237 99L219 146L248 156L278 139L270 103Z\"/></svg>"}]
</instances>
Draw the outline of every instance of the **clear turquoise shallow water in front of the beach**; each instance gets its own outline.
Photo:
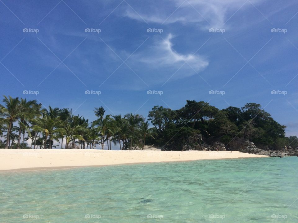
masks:
<instances>
[{"instance_id":1,"label":"clear turquoise shallow water in front of the beach","mask_svg":"<svg viewBox=\"0 0 298 223\"><path fill-rule=\"evenodd\" d=\"M0 222L298 222L298 158L0 173Z\"/></svg>"}]
</instances>

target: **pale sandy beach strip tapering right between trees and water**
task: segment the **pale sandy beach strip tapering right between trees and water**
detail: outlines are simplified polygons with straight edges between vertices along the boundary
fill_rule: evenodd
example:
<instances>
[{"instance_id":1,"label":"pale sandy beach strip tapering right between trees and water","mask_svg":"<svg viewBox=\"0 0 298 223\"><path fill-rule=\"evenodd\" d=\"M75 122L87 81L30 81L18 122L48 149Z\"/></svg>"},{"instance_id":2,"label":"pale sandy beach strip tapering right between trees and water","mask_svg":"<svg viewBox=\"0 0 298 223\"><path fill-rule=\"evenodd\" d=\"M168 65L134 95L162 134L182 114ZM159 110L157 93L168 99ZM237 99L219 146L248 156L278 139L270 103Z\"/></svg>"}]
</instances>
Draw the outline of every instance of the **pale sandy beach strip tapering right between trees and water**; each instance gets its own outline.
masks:
<instances>
[{"instance_id":1,"label":"pale sandy beach strip tapering right between trees and water","mask_svg":"<svg viewBox=\"0 0 298 223\"><path fill-rule=\"evenodd\" d=\"M87 149L0 149L0 171L73 168L169 161L267 157L239 151L108 151Z\"/></svg>"}]
</instances>

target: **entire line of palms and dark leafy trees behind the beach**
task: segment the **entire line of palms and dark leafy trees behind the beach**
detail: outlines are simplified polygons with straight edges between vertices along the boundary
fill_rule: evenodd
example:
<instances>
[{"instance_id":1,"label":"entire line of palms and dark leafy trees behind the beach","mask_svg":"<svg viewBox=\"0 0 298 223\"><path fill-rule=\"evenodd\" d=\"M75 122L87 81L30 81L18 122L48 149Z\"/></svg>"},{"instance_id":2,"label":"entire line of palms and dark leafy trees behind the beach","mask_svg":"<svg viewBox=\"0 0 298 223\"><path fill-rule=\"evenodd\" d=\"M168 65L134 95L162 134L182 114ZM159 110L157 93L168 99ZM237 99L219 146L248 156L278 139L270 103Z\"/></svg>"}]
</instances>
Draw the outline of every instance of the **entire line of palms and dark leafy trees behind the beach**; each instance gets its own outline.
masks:
<instances>
[{"instance_id":1,"label":"entire line of palms and dark leafy trees behind the beach","mask_svg":"<svg viewBox=\"0 0 298 223\"><path fill-rule=\"evenodd\" d=\"M187 100L177 110L154 106L148 120L132 113L111 116L104 107L95 107L95 120L89 122L69 108L41 109L35 100L4 96L2 102L0 148L94 149L98 145L111 150L113 142L121 150L144 149L146 144L181 150L185 144L214 140L227 146L236 136L273 149L298 146L298 138L285 137L286 126L257 103L220 110L204 101Z\"/></svg>"}]
</instances>

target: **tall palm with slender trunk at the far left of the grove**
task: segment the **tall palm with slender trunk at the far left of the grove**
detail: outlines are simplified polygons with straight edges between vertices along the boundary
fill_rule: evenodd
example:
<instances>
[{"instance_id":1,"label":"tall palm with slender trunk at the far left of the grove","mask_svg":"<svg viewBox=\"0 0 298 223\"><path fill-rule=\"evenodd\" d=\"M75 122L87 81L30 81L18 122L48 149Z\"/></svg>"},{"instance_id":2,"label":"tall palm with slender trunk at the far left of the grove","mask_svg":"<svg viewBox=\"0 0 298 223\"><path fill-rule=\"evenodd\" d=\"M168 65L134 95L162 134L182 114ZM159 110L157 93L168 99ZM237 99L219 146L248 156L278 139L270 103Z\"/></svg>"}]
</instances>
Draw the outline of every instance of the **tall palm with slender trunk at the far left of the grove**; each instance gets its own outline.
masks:
<instances>
[{"instance_id":1,"label":"tall palm with slender trunk at the far left of the grove","mask_svg":"<svg viewBox=\"0 0 298 223\"><path fill-rule=\"evenodd\" d=\"M5 106L0 105L0 114L2 117L4 117L4 120L7 121L6 144L4 146L7 149L10 142L12 125L20 117L20 112L19 112L20 100L19 98L12 98L11 96L7 98L4 95L3 102Z\"/></svg>"}]
</instances>

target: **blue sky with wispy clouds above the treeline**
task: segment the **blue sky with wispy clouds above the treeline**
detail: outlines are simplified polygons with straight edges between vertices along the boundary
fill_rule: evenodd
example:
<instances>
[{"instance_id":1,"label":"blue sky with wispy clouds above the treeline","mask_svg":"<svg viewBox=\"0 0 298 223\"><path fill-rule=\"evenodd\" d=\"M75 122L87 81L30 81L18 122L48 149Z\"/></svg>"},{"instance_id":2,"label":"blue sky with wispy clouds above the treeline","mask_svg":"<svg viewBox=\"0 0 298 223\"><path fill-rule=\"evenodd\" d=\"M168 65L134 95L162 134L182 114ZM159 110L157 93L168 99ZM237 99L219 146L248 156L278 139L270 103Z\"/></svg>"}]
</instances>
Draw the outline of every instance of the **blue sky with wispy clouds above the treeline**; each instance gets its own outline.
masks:
<instances>
[{"instance_id":1,"label":"blue sky with wispy clouds above the treeline","mask_svg":"<svg viewBox=\"0 0 298 223\"><path fill-rule=\"evenodd\" d=\"M1 0L0 94L89 120L99 106L147 116L187 99L255 102L298 135L297 12L295 0Z\"/></svg>"}]
</instances>

